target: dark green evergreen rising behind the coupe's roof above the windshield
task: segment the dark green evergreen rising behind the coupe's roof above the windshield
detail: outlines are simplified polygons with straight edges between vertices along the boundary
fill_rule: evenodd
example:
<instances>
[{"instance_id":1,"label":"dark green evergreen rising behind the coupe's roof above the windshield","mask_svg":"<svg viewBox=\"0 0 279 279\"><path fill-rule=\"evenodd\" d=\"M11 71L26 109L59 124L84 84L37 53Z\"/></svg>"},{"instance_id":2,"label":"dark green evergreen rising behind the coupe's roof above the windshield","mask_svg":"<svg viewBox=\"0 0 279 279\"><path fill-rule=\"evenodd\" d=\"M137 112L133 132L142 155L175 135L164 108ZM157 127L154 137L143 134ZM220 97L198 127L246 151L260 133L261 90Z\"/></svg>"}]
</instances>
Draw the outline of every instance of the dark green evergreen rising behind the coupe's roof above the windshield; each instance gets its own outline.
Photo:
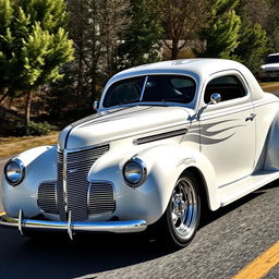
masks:
<instances>
[{"instance_id":1,"label":"dark green evergreen rising behind the coupe's roof above the windshield","mask_svg":"<svg viewBox=\"0 0 279 279\"><path fill-rule=\"evenodd\" d=\"M146 0L131 0L130 24L118 48L118 68L158 61L162 28Z\"/></svg>"}]
</instances>

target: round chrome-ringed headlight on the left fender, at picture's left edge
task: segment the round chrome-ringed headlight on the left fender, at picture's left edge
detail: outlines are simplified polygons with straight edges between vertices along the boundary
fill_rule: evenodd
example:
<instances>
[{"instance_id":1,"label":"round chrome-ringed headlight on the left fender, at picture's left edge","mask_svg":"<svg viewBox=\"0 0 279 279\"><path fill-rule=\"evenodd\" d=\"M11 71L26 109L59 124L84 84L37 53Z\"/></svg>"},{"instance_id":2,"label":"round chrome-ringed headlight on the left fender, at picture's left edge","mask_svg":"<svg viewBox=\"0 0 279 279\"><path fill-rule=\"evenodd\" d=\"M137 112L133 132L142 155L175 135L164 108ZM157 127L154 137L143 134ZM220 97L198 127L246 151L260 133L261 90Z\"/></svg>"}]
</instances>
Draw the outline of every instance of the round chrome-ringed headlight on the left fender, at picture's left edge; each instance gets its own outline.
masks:
<instances>
[{"instance_id":1,"label":"round chrome-ringed headlight on the left fender, at picture's left edge","mask_svg":"<svg viewBox=\"0 0 279 279\"><path fill-rule=\"evenodd\" d=\"M17 158L8 161L4 167L4 175L11 185L15 186L20 184L25 175L25 167L23 162Z\"/></svg>"}]
</instances>

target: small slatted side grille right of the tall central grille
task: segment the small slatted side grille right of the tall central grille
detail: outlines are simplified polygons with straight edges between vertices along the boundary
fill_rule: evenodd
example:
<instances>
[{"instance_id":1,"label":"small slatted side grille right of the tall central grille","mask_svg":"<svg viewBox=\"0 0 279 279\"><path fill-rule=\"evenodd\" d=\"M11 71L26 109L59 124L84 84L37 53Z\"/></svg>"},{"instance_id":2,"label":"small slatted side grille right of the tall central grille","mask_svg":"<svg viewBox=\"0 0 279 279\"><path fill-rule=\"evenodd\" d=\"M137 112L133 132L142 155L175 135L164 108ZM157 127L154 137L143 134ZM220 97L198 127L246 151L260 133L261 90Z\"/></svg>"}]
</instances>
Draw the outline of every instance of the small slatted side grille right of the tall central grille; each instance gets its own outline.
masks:
<instances>
[{"instance_id":1,"label":"small slatted side grille right of the tall central grille","mask_svg":"<svg viewBox=\"0 0 279 279\"><path fill-rule=\"evenodd\" d=\"M107 181L94 182L88 191L89 214L111 214L116 210L114 187Z\"/></svg>"}]
</instances>

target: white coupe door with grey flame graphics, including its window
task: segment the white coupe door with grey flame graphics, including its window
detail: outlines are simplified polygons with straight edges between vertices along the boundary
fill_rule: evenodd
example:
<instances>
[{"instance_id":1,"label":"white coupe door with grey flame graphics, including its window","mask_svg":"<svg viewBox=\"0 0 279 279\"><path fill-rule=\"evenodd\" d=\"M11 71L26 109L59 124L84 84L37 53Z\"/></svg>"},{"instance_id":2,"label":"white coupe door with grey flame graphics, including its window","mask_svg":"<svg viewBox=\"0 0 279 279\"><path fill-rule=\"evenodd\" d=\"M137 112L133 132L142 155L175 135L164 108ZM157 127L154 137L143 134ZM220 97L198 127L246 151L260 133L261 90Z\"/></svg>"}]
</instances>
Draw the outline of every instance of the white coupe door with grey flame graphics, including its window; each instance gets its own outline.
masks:
<instances>
[{"instance_id":1,"label":"white coupe door with grey flame graphics, including its window","mask_svg":"<svg viewBox=\"0 0 279 279\"><path fill-rule=\"evenodd\" d=\"M215 93L221 100L210 104ZM236 71L216 74L205 83L199 114L201 150L213 163L219 187L253 172L254 118L251 93Z\"/></svg>"}]
</instances>

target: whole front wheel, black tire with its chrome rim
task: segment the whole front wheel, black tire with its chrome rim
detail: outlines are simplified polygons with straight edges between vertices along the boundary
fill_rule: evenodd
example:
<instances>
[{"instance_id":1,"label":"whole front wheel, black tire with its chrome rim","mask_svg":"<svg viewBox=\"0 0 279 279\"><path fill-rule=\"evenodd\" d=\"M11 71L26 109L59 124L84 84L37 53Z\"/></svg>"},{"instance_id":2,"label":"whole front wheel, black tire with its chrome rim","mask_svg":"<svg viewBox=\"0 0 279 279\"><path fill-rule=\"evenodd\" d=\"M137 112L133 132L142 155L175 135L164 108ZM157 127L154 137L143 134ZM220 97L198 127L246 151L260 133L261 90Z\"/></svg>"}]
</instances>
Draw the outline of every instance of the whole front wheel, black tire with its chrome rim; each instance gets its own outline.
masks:
<instances>
[{"instance_id":1,"label":"whole front wheel, black tire with its chrome rim","mask_svg":"<svg viewBox=\"0 0 279 279\"><path fill-rule=\"evenodd\" d=\"M195 177L184 171L177 181L168 207L155 225L160 241L172 248L189 245L201 219L201 195ZM159 228L158 228L159 227Z\"/></svg>"}]
</instances>

